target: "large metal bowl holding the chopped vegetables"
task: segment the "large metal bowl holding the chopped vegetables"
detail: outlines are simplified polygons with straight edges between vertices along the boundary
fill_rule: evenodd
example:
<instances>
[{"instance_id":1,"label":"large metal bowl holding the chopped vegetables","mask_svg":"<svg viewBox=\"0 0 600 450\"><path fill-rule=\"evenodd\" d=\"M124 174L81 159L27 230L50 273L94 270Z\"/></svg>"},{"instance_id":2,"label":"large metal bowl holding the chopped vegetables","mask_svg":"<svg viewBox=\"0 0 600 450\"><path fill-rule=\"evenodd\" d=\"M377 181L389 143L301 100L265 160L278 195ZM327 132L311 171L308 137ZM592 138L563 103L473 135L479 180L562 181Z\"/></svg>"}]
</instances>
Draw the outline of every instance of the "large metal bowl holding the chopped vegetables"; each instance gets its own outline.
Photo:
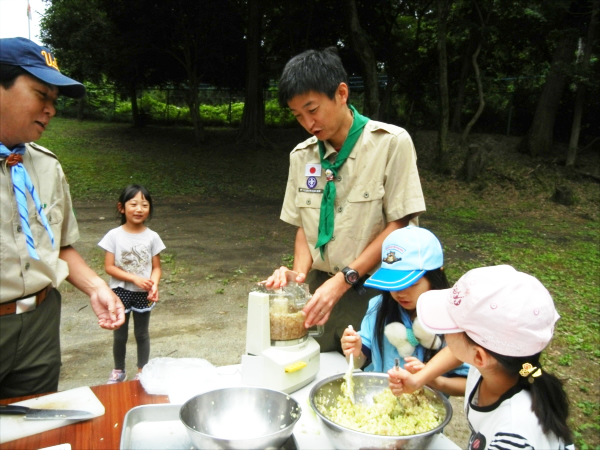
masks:
<instances>
[{"instance_id":1,"label":"large metal bowl holding the chopped vegetables","mask_svg":"<svg viewBox=\"0 0 600 450\"><path fill-rule=\"evenodd\" d=\"M388 387L388 376L384 373L354 373L354 399L355 403L372 405L373 396L379 394ZM420 449L426 448L436 433L450 422L452 418L452 405L446 397L440 393L425 387L425 393L433 401L438 401L444 405L446 416L442 423L434 429L425 433L413 434L410 436L381 436L377 434L363 433L351 430L342 425L332 422L319 410L315 399L324 398L327 403L337 403L341 392L341 385L344 381L344 374L332 375L319 381L310 391L310 405L321 420L325 434L337 449L347 448L402 448L402 449Z\"/></svg>"}]
</instances>

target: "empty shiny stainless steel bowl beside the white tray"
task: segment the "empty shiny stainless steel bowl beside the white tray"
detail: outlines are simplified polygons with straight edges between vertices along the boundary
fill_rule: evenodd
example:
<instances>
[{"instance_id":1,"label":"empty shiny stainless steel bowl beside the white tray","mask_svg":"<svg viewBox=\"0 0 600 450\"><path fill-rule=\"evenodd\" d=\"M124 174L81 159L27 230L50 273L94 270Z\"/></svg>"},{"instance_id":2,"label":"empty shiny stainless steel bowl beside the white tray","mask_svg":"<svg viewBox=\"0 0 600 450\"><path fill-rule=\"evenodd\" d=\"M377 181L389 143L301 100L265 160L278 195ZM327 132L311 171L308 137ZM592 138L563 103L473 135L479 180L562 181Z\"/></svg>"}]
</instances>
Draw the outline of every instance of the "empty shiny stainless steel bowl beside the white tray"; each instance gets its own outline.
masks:
<instances>
[{"instance_id":1,"label":"empty shiny stainless steel bowl beside the white tray","mask_svg":"<svg viewBox=\"0 0 600 450\"><path fill-rule=\"evenodd\" d=\"M204 392L181 407L179 418L196 448L280 448L301 414L289 395L259 387Z\"/></svg>"}]
</instances>

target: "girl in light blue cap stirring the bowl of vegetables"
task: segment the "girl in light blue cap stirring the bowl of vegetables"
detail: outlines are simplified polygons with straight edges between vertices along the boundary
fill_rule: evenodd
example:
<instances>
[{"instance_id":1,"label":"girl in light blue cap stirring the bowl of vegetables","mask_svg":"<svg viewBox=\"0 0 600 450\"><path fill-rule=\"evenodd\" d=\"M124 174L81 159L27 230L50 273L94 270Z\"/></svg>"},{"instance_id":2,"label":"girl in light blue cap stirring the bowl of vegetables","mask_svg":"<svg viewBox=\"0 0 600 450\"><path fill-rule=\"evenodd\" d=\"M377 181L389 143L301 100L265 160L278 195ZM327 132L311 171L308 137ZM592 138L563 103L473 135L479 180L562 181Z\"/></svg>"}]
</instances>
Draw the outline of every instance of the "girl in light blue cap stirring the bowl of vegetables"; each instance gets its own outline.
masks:
<instances>
[{"instance_id":1,"label":"girl in light blue cap stirring the bowl of vegetables","mask_svg":"<svg viewBox=\"0 0 600 450\"><path fill-rule=\"evenodd\" d=\"M387 372L398 359L400 367L416 373L445 345L443 336L423 329L416 312L422 293L450 287L443 265L440 241L424 228L407 226L385 239L381 268L365 282L384 292L369 301L360 331L348 327L341 339L344 355L353 354L356 368ZM429 386L464 395L468 370L460 366Z\"/></svg>"}]
</instances>

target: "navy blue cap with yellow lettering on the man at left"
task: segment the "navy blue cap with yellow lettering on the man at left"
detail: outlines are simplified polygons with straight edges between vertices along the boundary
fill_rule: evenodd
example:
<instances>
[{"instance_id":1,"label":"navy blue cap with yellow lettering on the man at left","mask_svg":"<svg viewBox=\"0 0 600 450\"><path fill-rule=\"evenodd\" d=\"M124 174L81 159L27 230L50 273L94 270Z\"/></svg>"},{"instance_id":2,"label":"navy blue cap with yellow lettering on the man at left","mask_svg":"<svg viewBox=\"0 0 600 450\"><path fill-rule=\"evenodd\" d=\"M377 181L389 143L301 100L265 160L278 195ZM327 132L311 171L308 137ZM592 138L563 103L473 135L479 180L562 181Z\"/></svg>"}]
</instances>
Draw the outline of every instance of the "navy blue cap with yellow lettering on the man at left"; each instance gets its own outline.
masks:
<instances>
[{"instance_id":1,"label":"navy blue cap with yellow lettering on the man at left","mask_svg":"<svg viewBox=\"0 0 600 450\"><path fill-rule=\"evenodd\" d=\"M85 86L62 73L52 52L29 39L0 39L0 64L18 66L44 83L54 85L62 95L81 98Z\"/></svg>"}]
</instances>

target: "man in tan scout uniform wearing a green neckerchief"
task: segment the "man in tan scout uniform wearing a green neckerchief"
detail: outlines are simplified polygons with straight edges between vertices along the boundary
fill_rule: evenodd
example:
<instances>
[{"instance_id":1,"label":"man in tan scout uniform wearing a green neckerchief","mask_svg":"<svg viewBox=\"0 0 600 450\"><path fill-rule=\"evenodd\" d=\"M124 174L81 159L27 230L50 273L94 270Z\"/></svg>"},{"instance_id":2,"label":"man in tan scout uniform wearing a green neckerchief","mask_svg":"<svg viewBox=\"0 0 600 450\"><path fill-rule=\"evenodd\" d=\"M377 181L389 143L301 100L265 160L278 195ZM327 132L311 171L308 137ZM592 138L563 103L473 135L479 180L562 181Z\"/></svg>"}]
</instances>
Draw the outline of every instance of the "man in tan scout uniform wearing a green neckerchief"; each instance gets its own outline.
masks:
<instances>
[{"instance_id":1,"label":"man in tan scout uniform wearing a green neckerchief","mask_svg":"<svg viewBox=\"0 0 600 450\"><path fill-rule=\"evenodd\" d=\"M298 227L293 270L314 292L305 326L325 325L321 351L341 352L344 329L360 328L377 295L362 282L379 267L383 240L425 210L408 133L360 115L348 97L334 49L295 56L279 81L280 104L313 135L290 155L281 219ZM286 272L267 287L285 285Z\"/></svg>"}]
</instances>

